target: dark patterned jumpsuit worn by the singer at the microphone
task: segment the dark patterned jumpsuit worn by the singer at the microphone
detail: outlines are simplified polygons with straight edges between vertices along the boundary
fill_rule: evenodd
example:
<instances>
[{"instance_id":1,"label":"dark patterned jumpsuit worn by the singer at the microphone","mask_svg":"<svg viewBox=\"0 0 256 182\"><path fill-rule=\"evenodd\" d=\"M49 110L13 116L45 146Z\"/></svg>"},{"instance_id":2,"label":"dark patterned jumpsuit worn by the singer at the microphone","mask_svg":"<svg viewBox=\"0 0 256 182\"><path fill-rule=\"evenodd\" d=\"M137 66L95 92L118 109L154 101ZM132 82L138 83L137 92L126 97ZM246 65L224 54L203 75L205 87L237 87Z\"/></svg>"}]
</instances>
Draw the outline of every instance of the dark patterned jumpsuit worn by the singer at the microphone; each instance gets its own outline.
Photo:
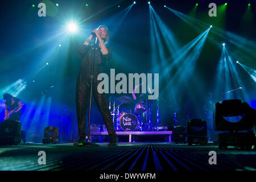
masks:
<instances>
[{"instance_id":1,"label":"dark patterned jumpsuit worn by the singer at the microphone","mask_svg":"<svg viewBox=\"0 0 256 182\"><path fill-rule=\"evenodd\" d=\"M79 137L84 138L86 129L86 111L90 101L90 76L92 75L92 64L94 58L93 96L104 120L110 142L112 142L116 137L112 115L110 113L105 94L100 94L97 91L97 86L101 82L101 80L97 80L97 76L100 73L104 73L104 65L106 65L106 63L108 63L112 58L111 48L107 47L107 49L108 54L102 55L100 48L94 49L93 46L86 46L84 44L79 46L78 52L82 57L82 62L76 84L76 112Z\"/></svg>"}]
</instances>

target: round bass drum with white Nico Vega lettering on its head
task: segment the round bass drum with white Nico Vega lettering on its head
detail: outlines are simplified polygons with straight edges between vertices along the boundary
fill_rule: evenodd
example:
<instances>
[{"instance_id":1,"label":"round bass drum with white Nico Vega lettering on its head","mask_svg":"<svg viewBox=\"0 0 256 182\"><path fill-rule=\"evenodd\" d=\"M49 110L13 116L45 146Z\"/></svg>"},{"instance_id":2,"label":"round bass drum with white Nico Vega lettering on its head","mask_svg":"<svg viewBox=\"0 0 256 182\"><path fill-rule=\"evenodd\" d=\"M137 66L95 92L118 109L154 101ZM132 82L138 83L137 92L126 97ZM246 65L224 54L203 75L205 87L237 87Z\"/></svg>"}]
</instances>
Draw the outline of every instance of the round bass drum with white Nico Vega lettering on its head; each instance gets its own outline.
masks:
<instances>
[{"instance_id":1,"label":"round bass drum with white Nico Vega lettering on its head","mask_svg":"<svg viewBox=\"0 0 256 182\"><path fill-rule=\"evenodd\" d=\"M139 122L135 115L123 113L121 117L119 117L119 123L123 131L134 131L137 129Z\"/></svg>"}]
</instances>

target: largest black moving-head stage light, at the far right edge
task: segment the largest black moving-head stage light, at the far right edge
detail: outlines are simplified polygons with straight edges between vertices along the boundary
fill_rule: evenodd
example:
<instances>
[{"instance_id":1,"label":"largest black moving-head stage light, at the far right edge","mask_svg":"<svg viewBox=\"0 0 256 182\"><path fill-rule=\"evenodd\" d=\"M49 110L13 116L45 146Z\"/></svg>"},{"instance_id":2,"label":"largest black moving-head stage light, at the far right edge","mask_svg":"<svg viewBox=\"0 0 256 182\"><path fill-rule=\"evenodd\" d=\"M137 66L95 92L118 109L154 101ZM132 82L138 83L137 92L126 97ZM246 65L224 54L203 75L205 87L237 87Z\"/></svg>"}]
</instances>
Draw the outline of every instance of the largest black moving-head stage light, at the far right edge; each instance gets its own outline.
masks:
<instances>
[{"instance_id":1,"label":"largest black moving-head stage light, at the far right edge","mask_svg":"<svg viewBox=\"0 0 256 182\"><path fill-rule=\"evenodd\" d=\"M230 122L229 117L236 117L236 122ZM228 146L246 147L254 144L255 134L239 132L253 129L254 109L242 100L232 99L217 102L213 105L213 128L215 131L229 131L218 134L218 147L228 149ZM230 139L232 138L232 139Z\"/></svg>"}]
</instances>

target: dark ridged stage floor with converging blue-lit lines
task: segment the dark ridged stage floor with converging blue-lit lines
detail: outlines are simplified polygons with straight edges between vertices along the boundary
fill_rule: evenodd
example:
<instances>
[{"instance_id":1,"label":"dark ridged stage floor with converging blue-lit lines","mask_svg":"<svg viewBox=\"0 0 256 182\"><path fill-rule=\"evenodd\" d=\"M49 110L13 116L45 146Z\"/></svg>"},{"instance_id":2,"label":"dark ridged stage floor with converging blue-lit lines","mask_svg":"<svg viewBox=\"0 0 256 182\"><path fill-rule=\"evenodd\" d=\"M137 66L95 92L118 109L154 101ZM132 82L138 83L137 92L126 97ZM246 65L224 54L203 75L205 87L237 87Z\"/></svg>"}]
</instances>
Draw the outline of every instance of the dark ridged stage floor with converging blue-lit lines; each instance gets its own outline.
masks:
<instances>
[{"instance_id":1,"label":"dark ridged stage floor with converging blue-lit lines","mask_svg":"<svg viewBox=\"0 0 256 182\"><path fill-rule=\"evenodd\" d=\"M175 143L118 143L108 147L63 144L24 144L0 147L0 170L86 170L86 171L237 171L256 170L255 150L218 146L188 146ZM46 152L46 164L39 164L39 151ZM216 151L217 164L209 164Z\"/></svg>"}]
</instances>

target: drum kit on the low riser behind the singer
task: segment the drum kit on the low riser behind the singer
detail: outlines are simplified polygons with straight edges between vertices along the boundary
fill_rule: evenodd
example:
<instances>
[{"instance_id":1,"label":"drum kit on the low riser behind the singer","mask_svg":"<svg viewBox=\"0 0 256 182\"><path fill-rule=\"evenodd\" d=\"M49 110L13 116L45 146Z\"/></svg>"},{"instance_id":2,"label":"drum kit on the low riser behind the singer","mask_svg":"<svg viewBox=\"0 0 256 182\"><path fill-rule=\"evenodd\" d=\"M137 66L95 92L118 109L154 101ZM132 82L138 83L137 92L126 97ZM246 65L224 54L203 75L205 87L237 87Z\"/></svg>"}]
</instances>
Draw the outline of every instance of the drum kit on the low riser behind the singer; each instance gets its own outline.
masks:
<instances>
[{"instance_id":1,"label":"drum kit on the low riser behind the singer","mask_svg":"<svg viewBox=\"0 0 256 182\"><path fill-rule=\"evenodd\" d=\"M152 101L147 94L137 100L129 96L110 96L109 110L115 131L150 131L152 129Z\"/></svg>"}]
</instances>

